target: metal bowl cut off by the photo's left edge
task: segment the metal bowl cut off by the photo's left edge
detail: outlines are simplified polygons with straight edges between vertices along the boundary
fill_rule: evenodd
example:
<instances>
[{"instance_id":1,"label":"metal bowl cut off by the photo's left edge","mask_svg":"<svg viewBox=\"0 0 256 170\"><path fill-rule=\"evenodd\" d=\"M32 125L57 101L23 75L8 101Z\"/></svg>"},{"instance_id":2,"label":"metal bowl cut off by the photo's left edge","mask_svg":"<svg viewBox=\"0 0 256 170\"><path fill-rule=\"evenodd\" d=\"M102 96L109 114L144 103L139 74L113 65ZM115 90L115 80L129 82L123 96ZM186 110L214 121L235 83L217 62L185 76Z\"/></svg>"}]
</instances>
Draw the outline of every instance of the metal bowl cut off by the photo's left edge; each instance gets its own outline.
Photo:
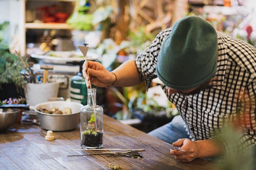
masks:
<instances>
[{"instance_id":1,"label":"metal bowl cut off by the photo's left edge","mask_svg":"<svg viewBox=\"0 0 256 170\"><path fill-rule=\"evenodd\" d=\"M0 109L0 131L8 129L17 122L19 109Z\"/></svg>"}]
</instances>

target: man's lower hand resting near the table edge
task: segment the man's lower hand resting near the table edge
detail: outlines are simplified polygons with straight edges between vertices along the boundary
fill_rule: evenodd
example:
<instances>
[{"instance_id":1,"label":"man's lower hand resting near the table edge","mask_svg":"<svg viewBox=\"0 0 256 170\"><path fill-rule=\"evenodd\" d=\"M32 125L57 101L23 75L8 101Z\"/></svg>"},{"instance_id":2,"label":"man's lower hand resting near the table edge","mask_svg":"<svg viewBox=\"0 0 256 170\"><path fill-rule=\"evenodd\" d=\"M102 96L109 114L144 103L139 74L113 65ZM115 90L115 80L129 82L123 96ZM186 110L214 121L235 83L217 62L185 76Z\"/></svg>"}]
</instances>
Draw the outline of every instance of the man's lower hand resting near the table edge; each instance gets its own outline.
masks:
<instances>
[{"instance_id":1,"label":"man's lower hand resting near the table edge","mask_svg":"<svg viewBox=\"0 0 256 170\"><path fill-rule=\"evenodd\" d=\"M176 147L181 147L184 151L170 149L170 155L174 155L176 159L182 162L190 162L198 157L198 146L190 139L178 139L173 142Z\"/></svg>"}]
</instances>

